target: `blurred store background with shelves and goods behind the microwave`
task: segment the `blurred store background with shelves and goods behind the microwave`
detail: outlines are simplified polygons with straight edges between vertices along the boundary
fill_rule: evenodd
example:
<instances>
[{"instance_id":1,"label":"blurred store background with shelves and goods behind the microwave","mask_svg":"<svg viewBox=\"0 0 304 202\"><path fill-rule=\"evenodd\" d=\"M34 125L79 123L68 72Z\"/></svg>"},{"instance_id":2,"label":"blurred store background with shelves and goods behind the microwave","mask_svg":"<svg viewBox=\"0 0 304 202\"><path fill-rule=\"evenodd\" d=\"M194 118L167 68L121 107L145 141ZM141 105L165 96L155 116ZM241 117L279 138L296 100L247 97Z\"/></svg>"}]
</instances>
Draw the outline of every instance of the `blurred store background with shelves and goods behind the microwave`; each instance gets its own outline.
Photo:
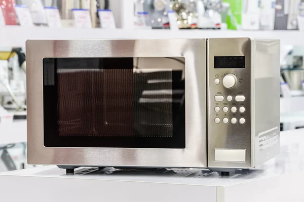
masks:
<instances>
[{"instance_id":1,"label":"blurred store background with shelves and goods behind the microwave","mask_svg":"<svg viewBox=\"0 0 304 202\"><path fill-rule=\"evenodd\" d=\"M304 0L1 0L0 7L0 172L33 167L27 39L280 38L281 130L304 128Z\"/></svg>"}]
</instances>

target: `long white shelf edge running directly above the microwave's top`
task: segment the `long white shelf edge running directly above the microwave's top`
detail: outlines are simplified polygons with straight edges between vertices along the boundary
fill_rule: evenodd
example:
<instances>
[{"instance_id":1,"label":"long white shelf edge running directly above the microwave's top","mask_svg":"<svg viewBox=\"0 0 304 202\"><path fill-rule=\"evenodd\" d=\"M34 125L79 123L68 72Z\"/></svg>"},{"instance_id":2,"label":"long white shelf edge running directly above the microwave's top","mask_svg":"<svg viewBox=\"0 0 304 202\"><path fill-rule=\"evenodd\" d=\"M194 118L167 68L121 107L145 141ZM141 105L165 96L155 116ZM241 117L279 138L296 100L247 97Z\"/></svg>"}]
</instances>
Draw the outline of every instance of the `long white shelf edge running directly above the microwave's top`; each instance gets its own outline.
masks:
<instances>
[{"instance_id":1,"label":"long white shelf edge running directly above the microwave's top","mask_svg":"<svg viewBox=\"0 0 304 202\"><path fill-rule=\"evenodd\" d=\"M27 39L99 39L99 38L202 38L202 37L264 37L280 38L284 45L304 45L304 32L296 30L234 31L234 30L130 30L101 28L49 28L5 26L0 29L0 46L24 47Z\"/></svg>"}]
</instances>

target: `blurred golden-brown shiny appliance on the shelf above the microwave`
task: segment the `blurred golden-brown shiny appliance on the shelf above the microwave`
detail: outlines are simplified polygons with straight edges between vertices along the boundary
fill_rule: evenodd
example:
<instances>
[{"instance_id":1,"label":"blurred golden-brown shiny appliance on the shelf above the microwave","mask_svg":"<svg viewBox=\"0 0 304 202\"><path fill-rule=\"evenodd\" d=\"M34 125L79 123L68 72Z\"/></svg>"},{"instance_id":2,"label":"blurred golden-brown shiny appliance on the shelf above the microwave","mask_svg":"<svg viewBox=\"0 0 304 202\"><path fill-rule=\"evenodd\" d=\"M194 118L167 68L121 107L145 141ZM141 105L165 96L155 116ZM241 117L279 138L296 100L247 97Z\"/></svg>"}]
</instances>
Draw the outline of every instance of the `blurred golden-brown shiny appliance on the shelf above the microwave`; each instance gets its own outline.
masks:
<instances>
[{"instance_id":1,"label":"blurred golden-brown shiny appliance on the shelf above the microwave","mask_svg":"<svg viewBox=\"0 0 304 202\"><path fill-rule=\"evenodd\" d=\"M173 0L172 7L177 14L177 24L180 29L197 28L198 12L193 0Z\"/></svg>"}]
</instances>

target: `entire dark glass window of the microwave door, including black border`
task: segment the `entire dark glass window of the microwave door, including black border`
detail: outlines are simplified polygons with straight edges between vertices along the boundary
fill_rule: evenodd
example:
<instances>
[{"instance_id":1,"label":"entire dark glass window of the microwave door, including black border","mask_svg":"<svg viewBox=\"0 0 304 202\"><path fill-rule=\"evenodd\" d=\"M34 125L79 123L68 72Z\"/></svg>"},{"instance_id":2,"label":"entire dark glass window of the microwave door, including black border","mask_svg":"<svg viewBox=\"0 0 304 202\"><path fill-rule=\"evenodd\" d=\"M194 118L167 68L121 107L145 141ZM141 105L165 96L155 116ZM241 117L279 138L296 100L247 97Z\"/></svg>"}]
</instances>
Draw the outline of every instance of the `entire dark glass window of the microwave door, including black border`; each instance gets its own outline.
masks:
<instances>
[{"instance_id":1,"label":"entire dark glass window of the microwave door, including black border","mask_svg":"<svg viewBox=\"0 0 304 202\"><path fill-rule=\"evenodd\" d=\"M184 58L44 58L47 147L184 148Z\"/></svg>"}]
</instances>

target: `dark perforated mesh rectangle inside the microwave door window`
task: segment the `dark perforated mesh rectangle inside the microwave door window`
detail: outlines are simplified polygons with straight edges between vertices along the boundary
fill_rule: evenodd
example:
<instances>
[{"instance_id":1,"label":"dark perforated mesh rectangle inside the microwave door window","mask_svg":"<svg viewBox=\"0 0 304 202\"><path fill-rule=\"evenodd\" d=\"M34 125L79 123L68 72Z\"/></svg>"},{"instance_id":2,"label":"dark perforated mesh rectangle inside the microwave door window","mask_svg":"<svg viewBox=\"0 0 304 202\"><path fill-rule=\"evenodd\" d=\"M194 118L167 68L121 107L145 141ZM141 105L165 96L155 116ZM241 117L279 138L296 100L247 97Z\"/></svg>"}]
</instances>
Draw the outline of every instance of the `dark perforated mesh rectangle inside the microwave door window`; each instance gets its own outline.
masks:
<instances>
[{"instance_id":1,"label":"dark perforated mesh rectangle inside the microwave door window","mask_svg":"<svg viewBox=\"0 0 304 202\"><path fill-rule=\"evenodd\" d=\"M155 69L58 69L59 135L171 137L171 81Z\"/></svg>"}]
</instances>

